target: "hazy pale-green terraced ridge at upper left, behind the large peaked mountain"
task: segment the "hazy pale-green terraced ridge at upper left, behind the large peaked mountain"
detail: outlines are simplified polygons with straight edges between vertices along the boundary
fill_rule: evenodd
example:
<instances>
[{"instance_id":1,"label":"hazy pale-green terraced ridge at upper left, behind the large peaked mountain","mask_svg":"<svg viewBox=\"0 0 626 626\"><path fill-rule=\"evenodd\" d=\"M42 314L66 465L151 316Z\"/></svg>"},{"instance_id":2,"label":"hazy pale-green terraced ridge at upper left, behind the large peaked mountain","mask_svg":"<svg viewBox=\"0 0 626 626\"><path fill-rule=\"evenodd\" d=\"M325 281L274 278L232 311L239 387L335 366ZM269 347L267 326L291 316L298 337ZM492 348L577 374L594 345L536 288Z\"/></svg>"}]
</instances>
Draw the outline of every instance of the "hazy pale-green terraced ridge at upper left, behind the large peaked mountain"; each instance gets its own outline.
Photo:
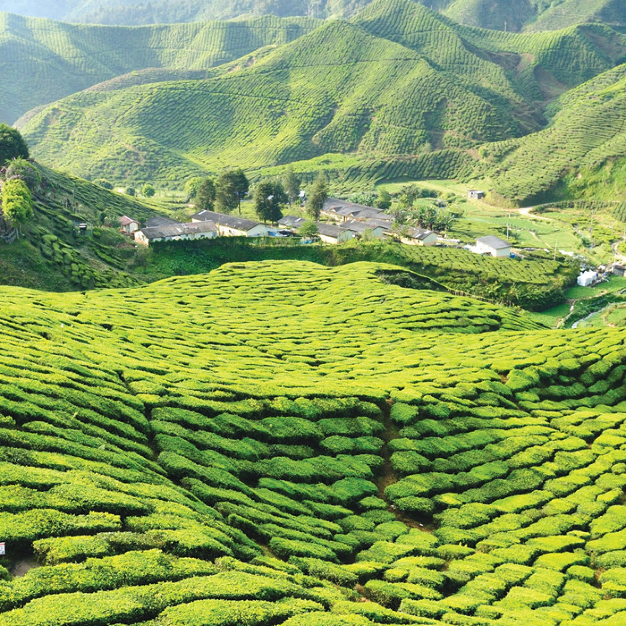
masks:
<instances>
[{"instance_id":1,"label":"hazy pale-green terraced ridge at upper left, behind the large peaked mountain","mask_svg":"<svg viewBox=\"0 0 626 626\"><path fill-rule=\"evenodd\" d=\"M272 16L142 28L80 26L0 14L0 121L121 74L146 68L206 69L317 25Z\"/></svg>"}]
</instances>

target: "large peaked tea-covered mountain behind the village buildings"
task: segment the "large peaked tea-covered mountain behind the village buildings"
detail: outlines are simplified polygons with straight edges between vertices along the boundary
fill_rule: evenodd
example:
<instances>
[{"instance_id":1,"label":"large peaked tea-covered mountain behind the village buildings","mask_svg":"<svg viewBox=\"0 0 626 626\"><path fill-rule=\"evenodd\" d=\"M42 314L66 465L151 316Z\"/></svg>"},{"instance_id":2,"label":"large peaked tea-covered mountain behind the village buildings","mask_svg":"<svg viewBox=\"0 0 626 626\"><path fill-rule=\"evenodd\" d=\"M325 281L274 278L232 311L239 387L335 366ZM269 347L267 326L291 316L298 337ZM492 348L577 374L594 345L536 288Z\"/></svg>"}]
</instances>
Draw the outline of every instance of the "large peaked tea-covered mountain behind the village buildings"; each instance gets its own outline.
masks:
<instances>
[{"instance_id":1,"label":"large peaked tea-covered mountain behind the village buildings","mask_svg":"<svg viewBox=\"0 0 626 626\"><path fill-rule=\"evenodd\" d=\"M184 180L326 153L354 153L370 178L396 166L469 175L472 148L540 130L546 100L625 53L608 28L492 33L409 0L378 0L352 23L325 23L251 66L76 94L19 126L40 160L87 177L118 179L123 162L131 180Z\"/></svg>"}]
</instances>

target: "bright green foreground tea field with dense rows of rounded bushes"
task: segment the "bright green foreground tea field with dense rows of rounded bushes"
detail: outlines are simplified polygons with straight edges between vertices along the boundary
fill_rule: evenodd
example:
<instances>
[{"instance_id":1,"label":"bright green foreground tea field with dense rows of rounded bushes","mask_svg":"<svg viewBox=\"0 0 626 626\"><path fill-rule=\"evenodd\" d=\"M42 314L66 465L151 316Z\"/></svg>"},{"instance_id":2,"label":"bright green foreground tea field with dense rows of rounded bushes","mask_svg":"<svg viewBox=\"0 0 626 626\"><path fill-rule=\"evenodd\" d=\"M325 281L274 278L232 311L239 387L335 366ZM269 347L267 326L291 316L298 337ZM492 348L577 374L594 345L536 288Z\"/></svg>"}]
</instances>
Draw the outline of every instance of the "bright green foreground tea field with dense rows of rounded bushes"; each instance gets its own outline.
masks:
<instances>
[{"instance_id":1,"label":"bright green foreground tea field with dense rows of rounded bushes","mask_svg":"<svg viewBox=\"0 0 626 626\"><path fill-rule=\"evenodd\" d=\"M380 270L4 287L0 625L619 624L624 332Z\"/></svg>"}]
</instances>

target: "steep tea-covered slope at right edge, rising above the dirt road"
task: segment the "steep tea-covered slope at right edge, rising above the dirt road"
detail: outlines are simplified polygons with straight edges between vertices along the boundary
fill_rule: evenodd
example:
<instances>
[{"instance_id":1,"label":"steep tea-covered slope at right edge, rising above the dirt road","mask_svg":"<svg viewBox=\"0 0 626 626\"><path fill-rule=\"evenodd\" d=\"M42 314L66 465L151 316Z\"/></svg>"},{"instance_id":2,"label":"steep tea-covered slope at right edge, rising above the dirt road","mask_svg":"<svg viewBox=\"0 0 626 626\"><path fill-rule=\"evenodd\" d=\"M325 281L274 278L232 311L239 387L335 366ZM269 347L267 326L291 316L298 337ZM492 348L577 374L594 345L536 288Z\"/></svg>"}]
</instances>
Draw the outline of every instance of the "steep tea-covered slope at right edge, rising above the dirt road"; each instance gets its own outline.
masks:
<instances>
[{"instance_id":1,"label":"steep tea-covered slope at right edge, rising above the dirt road","mask_svg":"<svg viewBox=\"0 0 626 626\"><path fill-rule=\"evenodd\" d=\"M517 202L550 197L567 173L581 179L573 187L583 187L586 168L626 156L626 65L566 93L553 110L545 130L481 150L500 195ZM623 185L616 189L624 191Z\"/></svg>"}]
</instances>

